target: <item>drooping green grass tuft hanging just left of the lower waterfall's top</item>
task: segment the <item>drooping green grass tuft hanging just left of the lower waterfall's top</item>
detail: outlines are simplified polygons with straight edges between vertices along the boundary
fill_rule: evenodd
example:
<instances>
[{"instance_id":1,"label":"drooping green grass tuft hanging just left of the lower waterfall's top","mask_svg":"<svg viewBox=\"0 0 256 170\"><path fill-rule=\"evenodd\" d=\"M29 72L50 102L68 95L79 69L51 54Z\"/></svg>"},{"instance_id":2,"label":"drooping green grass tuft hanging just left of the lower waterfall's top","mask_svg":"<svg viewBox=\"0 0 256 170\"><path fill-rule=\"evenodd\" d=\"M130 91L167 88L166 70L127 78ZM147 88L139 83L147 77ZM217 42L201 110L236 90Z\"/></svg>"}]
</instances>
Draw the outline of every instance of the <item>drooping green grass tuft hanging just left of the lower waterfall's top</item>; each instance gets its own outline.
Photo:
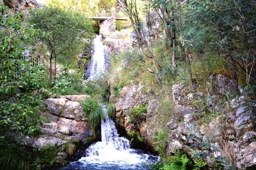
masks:
<instances>
[{"instance_id":1,"label":"drooping green grass tuft hanging just left of the lower waterfall's top","mask_svg":"<svg viewBox=\"0 0 256 170\"><path fill-rule=\"evenodd\" d=\"M88 99L86 101L81 101L82 108L86 117L88 117L88 122L95 134L100 129L100 120L105 119L104 112L100 107L99 103L95 99Z\"/></svg>"}]
</instances>

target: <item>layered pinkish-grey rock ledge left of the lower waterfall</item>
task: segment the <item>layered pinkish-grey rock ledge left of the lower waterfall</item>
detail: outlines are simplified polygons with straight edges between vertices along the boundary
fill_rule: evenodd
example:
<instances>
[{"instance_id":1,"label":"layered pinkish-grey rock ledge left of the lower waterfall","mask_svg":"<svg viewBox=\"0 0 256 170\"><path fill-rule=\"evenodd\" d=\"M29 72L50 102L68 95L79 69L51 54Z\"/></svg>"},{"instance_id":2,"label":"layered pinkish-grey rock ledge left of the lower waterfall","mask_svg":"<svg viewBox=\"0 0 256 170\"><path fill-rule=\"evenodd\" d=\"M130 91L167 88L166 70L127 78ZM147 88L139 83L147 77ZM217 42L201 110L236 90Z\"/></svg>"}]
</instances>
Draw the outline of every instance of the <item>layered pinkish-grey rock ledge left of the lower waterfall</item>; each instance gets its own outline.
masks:
<instances>
[{"instance_id":1,"label":"layered pinkish-grey rock ledge left of the lower waterfall","mask_svg":"<svg viewBox=\"0 0 256 170\"><path fill-rule=\"evenodd\" d=\"M78 102L90 96L61 96L45 100L46 111L40 115L47 117L49 123L42 125L43 134L37 138L26 138L29 146L44 147L64 143L82 143L92 136L88 119Z\"/></svg>"}]
</instances>

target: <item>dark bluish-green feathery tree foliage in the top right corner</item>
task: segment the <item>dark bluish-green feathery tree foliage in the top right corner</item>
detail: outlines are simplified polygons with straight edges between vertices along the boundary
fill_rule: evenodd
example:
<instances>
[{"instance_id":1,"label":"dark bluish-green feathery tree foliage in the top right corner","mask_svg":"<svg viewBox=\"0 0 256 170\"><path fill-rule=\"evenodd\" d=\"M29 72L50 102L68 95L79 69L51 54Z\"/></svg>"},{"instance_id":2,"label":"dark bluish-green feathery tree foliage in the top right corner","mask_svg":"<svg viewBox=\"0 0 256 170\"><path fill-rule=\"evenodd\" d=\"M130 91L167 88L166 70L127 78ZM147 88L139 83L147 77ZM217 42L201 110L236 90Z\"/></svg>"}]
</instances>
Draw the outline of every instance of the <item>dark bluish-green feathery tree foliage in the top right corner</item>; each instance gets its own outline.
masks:
<instances>
[{"instance_id":1,"label":"dark bluish-green feathery tree foliage in the top right corner","mask_svg":"<svg viewBox=\"0 0 256 170\"><path fill-rule=\"evenodd\" d=\"M256 81L256 6L253 1L188 1L182 34L185 45L201 56L220 55L228 69Z\"/></svg>"}]
</instances>

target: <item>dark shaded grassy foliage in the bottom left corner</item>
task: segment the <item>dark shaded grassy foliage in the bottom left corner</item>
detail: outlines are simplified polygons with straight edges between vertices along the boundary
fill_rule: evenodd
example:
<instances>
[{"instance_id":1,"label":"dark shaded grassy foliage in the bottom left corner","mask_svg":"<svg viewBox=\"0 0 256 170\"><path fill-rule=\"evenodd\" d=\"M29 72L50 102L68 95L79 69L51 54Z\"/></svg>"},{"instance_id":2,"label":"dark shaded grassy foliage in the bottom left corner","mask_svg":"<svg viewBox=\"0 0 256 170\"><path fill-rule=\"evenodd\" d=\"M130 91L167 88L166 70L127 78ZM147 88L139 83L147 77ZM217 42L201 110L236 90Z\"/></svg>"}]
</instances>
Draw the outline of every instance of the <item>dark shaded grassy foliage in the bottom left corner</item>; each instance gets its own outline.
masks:
<instances>
[{"instance_id":1,"label":"dark shaded grassy foliage in the bottom left corner","mask_svg":"<svg viewBox=\"0 0 256 170\"><path fill-rule=\"evenodd\" d=\"M31 150L21 141L18 136L1 136L1 169L42 169L54 164L58 148L45 146Z\"/></svg>"}]
</instances>

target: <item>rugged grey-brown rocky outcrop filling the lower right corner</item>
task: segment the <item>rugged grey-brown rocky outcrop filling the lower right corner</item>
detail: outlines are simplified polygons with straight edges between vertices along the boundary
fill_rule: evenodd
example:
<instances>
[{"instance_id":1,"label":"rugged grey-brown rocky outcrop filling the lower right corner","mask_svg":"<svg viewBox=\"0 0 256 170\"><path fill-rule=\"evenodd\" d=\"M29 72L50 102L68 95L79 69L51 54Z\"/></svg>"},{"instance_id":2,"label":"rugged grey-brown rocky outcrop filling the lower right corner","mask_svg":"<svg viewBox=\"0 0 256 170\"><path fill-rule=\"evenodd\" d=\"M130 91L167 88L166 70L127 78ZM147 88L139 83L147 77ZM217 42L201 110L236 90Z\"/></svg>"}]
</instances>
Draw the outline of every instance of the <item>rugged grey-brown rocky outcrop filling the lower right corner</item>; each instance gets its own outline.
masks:
<instances>
[{"instance_id":1,"label":"rugged grey-brown rocky outcrop filling the lower right corner","mask_svg":"<svg viewBox=\"0 0 256 170\"><path fill-rule=\"evenodd\" d=\"M230 81L218 87L225 89L227 84L229 85ZM225 89L225 92L220 89L219 92L232 92L230 89ZM169 129L167 153L173 154L177 149L186 150L191 157L196 154L203 158L210 168L214 168L216 162L226 168L231 168L231 165L239 169L255 167L256 100L248 96L237 97L231 101L230 110L225 112L216 108L221 103L218 96L208 96L209 99L206 99L202 93L186 95L184 91L184 85L173 85L173 101L176 106L181 106L188 112L191 108L194 111L184 115L181 122L172 120L166 124ZM219 113L219 116L208 124L202 124L199 121L204 117L200 115L202 111L197 110L195 103L191 103L195 96L205 101L209 110L221 110L221 115Z\"/></svg>"}]
</instances>

